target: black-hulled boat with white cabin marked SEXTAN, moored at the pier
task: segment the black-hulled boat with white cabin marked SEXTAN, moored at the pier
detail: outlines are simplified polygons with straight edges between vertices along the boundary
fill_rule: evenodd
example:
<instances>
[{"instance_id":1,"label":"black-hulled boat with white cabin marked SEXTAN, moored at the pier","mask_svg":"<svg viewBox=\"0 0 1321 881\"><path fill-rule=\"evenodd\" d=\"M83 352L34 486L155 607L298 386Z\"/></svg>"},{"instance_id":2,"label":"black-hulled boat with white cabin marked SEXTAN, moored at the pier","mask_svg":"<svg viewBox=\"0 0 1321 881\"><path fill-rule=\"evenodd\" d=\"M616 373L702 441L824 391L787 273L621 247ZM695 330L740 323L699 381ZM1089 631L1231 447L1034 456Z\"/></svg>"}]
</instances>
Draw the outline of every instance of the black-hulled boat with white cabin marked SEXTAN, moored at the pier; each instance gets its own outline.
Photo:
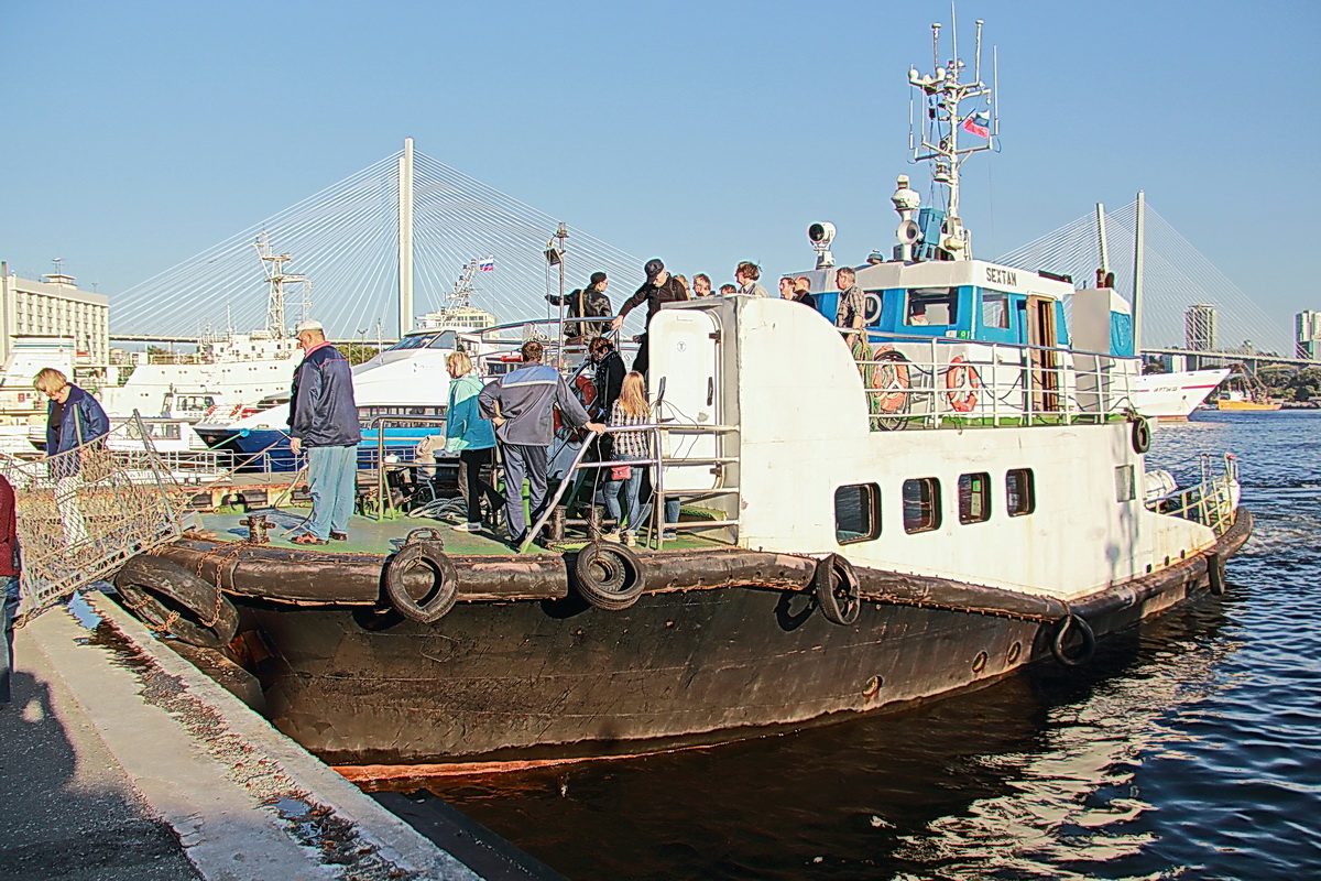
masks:
<instances>
[{"instance_id":1,"label":"black-hulled boat with white cabin marked SEXTAN, moored at the pier","mask_svg":"<svg viewBox=\"0 0 1321 881\"><path fill-rule=\"evenodd\" d=\"M733 296L653 318L654 510L683 502L678 539L608 543L598 511L555 506L546 544L513 553L365 518L306 548L291 512L273 531L213 514L116 584L252 671L275 725L326 761L466 769L896 709L1083 664L1096 638L1223 592L1252 523L1235 462L1153 491L1124 300L972 259L958 170L995 119L960 110L989 95L964 74L909 74L930 108L917 159L948 197L921 207L900 180L900 244L856 269L865 345L832 321L826 223L816 309Z\"/></svg>"}]
</instances>

